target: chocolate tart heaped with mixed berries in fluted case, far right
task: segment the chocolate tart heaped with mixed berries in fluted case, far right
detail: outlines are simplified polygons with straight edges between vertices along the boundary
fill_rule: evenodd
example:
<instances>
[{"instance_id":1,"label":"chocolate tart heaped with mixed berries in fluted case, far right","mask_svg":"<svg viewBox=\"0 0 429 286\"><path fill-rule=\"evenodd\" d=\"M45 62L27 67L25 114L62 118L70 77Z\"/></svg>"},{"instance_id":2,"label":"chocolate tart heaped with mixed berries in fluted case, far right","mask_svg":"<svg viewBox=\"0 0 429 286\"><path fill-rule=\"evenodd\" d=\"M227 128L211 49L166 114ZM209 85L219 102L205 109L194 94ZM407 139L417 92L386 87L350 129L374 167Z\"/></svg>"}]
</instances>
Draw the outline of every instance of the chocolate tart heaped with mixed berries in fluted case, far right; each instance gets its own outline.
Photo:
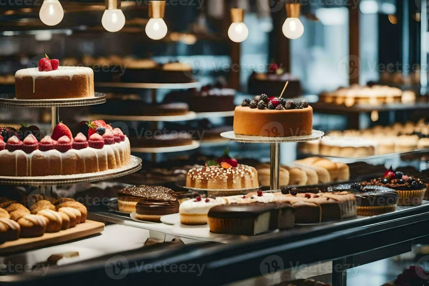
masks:
<instances>
[{"instance_id":1,"label":"chocolate tart heaped with mixed berries in fluted case, far right","mask_svg":"<svg viewBox=\"0 0 429 286\"><path fill-rule=\"evenodd\" d=\"M420 205L426 193L426 184L420 179L395 172L392 168L387 170L382 178L363 182L362 186L382 186L396 190L399 193L399 206Z\"/></svg>"}]
</instances>

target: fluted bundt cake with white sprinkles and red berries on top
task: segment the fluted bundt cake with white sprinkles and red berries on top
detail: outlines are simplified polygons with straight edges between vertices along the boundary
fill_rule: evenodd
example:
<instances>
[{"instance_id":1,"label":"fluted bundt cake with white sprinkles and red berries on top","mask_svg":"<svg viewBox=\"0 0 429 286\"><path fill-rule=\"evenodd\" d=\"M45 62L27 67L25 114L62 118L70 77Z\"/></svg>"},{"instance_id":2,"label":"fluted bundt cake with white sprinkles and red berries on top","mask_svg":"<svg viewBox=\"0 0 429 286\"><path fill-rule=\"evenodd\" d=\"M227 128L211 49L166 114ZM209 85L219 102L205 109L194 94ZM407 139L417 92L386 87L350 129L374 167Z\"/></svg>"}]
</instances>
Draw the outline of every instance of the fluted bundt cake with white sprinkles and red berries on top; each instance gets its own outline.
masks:
<instances>
[{"instance_id":1,"label":"fluted bundt cake with white sprinkles and red berries on top","mask_svg":"<svg viewBox=\"0 0 429 286\"><path fill-rule=\"evenodd\" d=\"M258 188L258 173L254 167L242 165L230 158L227 151L205 167L190 169L186 175L186 187L209 190L237 190Z\"/></svg>"}]
</instances>

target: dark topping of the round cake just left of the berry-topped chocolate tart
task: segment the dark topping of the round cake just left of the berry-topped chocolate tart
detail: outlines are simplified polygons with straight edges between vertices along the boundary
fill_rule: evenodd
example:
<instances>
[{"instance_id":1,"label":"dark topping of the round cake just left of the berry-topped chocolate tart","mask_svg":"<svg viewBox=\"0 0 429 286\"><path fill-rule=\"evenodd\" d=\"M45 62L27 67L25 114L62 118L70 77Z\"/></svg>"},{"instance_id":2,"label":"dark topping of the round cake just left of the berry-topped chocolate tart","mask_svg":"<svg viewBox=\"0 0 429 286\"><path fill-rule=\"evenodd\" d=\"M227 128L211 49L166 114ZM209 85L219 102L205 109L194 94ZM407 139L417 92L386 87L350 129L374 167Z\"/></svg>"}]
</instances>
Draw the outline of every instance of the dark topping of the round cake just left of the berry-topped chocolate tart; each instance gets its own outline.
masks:
<instances>
[{"instance_id":1,"label":"dark topping of the round cake just left of the berry-topped chocolate tart","mask_svg":"<svg viewBox=\"0 0 429 286\"><path fill-rule=\"evenodd\" d=\"M399 194L393 189L382 186L366 186L365 193L350 189L350 184L334 187L335 190L352 192L356 198L358 207L372 207L398 204Z\"/></svg>"}]
</instances>

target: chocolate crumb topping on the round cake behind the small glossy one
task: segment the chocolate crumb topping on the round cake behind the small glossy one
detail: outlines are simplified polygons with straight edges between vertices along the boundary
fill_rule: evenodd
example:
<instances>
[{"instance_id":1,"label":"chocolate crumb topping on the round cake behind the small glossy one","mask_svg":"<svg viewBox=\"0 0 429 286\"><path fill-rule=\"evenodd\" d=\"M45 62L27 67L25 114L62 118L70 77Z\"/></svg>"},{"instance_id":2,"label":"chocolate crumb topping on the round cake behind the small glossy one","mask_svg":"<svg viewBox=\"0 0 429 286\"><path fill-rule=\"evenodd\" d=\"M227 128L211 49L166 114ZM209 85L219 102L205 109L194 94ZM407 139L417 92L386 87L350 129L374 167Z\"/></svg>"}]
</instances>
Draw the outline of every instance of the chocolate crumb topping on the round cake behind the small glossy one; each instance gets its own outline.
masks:
<instances>
[{"instance_id":1,"label":"chocolate crumb topping on the round cake behind the small glossy one","mask_svg":"<svg viewBox=\"0 0 429 286\"><path fill-rule=\"evenodd\" d=\"M177 198L174 191L162 186L132 186L118 191L118 196L133 196L137 198L153 198L172 200Z\"/></svg>"}]
</instances>

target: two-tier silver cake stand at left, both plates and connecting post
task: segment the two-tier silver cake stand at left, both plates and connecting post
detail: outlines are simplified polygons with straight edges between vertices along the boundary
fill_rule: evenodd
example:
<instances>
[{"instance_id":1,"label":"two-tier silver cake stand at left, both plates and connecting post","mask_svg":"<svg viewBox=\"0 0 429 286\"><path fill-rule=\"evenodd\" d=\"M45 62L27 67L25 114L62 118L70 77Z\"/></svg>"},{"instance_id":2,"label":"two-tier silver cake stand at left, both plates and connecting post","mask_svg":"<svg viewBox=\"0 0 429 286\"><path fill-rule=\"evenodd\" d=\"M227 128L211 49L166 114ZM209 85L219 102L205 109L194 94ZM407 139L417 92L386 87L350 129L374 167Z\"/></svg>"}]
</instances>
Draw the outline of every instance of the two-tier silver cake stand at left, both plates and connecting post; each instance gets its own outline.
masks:
<instances>
[{"instance_id":1,"label":"two-tier silver cake stand at left, both plates and connecting post","mask_svg":"<svg viewBox=\"0 0 429 286\"><path fill-rule=\"evenodd\" d=\"M94 105L106 102L106 94L95 93L92 98L72 99L16 99L15 94L1 94L0 106L9 107L50 107L52 112L52 130L59 122L59 107ZM87 174L54 175L42 177L7 177L0 176L0 184L3 185L27 185L27 186L54 186L64 184L75 184L81 182L103 181L118 178L142 168L142 160L131 156L130 164L118 169L106 170Z\"/></svg>"}]
</instances>

